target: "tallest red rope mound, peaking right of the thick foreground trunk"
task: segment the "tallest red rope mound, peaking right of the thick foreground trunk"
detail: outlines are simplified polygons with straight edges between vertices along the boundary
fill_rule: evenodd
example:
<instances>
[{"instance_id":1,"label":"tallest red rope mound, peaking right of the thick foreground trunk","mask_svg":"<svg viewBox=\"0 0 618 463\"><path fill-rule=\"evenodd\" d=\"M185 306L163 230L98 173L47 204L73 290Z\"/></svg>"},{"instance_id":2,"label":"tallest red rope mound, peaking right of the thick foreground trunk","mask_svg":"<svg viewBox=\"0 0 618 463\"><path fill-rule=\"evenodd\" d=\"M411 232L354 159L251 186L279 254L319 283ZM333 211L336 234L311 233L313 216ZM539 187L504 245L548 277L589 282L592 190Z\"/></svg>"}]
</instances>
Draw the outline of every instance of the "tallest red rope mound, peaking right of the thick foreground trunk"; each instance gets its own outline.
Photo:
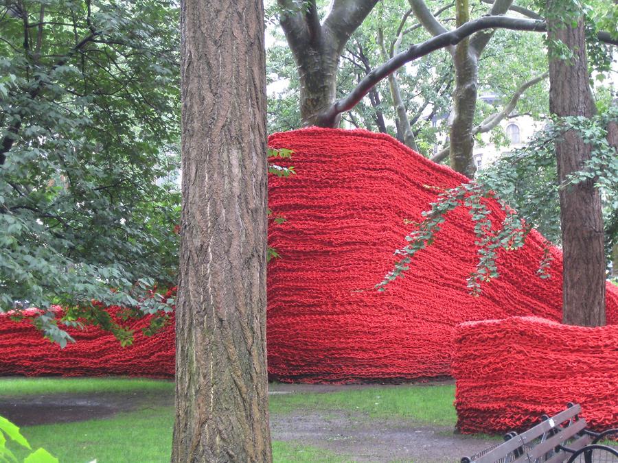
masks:
<instances>
[{"instance_id":1,"label":"tallest red rope mound, peaking right of the thick foreground trunk","mask_svg":"<svg viewBox=\"0 0 618 463\"><path fill-rule=\"evenodd\" d=\"M551 278L536 274L544 239L503 253L501 276L468 294L477 263L473 222L449 214L433 246L415 254L404 279L378 293L439 189L467 181L398 143L365 130L308 128L273 134L268 145L294 150L297 174L271 178L268 204L283 224L268 242L281 255L268 265L268 370L279 381L352 382L450 375L453 334L469 320L542 316L560 320L562 257ZM280 160L277 159L277 163ZM504 215L488 202L496 220ZM618 297L608 289L608 322ZM563 404L564 405L564 404Z\"/></svg>"}]
</instances>

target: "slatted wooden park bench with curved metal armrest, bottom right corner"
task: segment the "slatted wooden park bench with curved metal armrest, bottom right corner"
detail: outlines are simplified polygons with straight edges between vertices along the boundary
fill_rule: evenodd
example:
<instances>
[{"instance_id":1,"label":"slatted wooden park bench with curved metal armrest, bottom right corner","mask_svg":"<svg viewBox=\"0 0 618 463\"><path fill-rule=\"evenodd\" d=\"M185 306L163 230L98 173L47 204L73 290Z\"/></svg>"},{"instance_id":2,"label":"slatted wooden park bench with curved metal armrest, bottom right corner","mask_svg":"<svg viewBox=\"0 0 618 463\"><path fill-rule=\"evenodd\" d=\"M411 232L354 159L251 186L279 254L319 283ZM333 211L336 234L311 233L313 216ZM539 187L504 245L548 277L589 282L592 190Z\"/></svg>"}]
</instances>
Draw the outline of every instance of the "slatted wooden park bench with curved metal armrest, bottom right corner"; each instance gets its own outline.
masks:
<instances>
[{"instance_id":1,"label":"slatted wooden park bench with curved metal armrest, bottom right corner","mask_svg":"<svg viewBox=\"0 0 618 463\"><path fill-rule=\"evenodd\" d=\"M543 415L538 425L522 434L510 432L506 442L464 457L461 463L618 462L618 449L597 443L618 434L618 429L590 431L579 416L581 411L580 405L569 403L556 416Z\"/></svg>"}]
</instances>

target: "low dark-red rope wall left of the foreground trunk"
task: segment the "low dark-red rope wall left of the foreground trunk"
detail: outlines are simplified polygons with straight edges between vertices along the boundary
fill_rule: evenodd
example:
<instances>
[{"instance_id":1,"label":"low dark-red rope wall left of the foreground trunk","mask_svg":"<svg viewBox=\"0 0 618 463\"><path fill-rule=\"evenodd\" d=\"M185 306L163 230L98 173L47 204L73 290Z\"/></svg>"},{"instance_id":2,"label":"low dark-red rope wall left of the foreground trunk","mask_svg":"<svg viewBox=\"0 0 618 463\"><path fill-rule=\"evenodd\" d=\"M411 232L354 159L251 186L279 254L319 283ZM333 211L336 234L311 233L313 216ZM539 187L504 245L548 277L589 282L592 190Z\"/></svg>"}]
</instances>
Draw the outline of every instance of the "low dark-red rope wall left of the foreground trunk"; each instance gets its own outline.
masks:
<instances>
[{"instance_id":1,"label":"low dark-red rope wall left of the foreground trunk","mask_svg":"<svg viewBox=\"0 0 618 463\"><path fill-rule=\"evenodd\" d=\"M135 330L133 345L122 347L117 339L96 327L68 328L76 340L61 349L45 340L31 323L15 322L4 314L0 320L0 376L104 376L174 377L174 318L154 336L145 336L152 316L123 321L121 307L106 309L115 322Z\"/></svg>"}]
</instances>

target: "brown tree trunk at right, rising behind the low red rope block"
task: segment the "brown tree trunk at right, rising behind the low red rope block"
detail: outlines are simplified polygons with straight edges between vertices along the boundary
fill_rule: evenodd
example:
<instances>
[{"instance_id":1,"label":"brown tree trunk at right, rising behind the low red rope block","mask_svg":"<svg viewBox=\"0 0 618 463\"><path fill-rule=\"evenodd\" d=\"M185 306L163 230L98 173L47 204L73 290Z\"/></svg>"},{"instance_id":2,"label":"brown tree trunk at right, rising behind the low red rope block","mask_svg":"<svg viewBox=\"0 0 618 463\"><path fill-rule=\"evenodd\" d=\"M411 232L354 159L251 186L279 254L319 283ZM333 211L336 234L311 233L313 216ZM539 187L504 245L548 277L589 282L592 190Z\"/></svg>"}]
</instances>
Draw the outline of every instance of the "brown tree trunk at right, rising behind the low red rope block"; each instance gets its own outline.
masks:
<instances>
[{"instance_id":1,"label":"brown tree trunk at right, rising behind the low red rope block","mask_svg":"<svg viewBox=\"0 0 618 463\"><path fill-rule=\"evenodd\" d=\"M573 53L572 60L549 60L549 109L560 117L591 117L595 104L590 89L584 42L584 21L576 27L571 21L560 23L556 16L560 0L547 1L550 38L561 40ZM591 147L574 131L564 134L556 143L558 178L582 169L591 157ZM562 321L587 327L604 325L605 318L605 252L601 196L595 180L560 189L562 226L563 278Z\"/></svg>"}]
</instances>

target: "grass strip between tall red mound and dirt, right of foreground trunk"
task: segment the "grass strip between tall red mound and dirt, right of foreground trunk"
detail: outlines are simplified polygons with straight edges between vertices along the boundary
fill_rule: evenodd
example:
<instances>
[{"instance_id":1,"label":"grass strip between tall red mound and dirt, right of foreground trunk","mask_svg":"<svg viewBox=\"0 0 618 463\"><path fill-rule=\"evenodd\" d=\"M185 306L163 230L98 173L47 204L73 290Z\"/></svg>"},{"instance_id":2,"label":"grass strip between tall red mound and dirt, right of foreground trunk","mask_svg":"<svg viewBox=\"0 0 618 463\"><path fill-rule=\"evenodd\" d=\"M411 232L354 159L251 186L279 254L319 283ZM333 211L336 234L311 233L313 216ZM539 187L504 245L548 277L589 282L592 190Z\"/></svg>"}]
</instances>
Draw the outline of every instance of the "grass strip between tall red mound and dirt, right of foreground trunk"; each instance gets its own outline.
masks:
<instances>
[{"instance_id":1,"label":"grass strip between tall red mound and dirt, right of foreground trunk","mask_svg":"<svg viewBox=\"0 0 618 463\"><path fill-rule=\"evenodd\" d=\"M371 418L402 418L417 423L455 426L455 385L401 385L316 394L312 392L270 396L271 413L289 414L298 409L346 410Z\"/></svg>"}]
</instances>

